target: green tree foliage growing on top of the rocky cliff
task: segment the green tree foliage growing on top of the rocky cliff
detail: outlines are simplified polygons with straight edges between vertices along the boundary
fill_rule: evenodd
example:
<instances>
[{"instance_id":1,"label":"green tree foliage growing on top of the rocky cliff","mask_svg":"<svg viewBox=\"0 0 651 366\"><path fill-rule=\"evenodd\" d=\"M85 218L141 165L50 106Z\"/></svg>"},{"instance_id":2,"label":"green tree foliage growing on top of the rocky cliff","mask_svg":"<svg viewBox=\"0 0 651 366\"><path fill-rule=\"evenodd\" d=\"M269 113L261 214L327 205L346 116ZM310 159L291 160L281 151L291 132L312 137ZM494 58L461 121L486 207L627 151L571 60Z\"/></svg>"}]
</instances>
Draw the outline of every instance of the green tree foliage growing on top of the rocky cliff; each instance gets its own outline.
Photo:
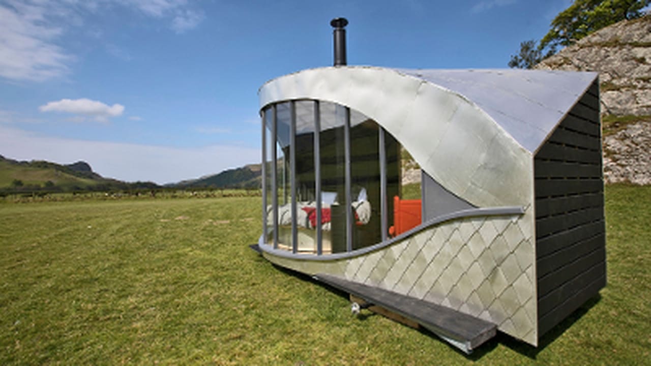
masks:
<instances>
[{"instance_id":1,"label":"green tree foliage growing on top of the rocky cliff","mask_svg":"<svg viewBox=\"0 0 651 366\"><path fill-rule=\"evenodd\" d=\"M641 11L651 0L575 0L570 7L551 21L551 29L536 44L535 40L520 43L518 55L511 55L511 68L533 68L554 55L559 46L566 47L603 27L624 19L644 15Z\"/></svg>"}]
</instances>

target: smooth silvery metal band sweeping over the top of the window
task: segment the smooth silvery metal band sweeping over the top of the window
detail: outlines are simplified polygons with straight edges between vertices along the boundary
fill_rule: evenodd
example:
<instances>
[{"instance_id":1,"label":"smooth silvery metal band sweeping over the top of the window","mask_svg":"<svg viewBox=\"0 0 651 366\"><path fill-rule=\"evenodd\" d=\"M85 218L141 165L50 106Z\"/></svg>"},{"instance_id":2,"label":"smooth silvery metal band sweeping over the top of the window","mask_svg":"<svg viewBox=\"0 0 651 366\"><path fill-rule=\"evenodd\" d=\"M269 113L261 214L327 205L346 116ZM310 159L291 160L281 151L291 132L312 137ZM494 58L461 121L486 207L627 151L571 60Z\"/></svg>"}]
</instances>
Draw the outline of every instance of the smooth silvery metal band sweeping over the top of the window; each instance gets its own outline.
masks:
<instances>
[{"instance_id":1,"label":"smooth silvery metal band sweeping over the top of the window","mask_svg":"<svg viewBox=\"0 0 651 366\"><path fill-rule=\"evenodd\" d=\"M329 67L279 77L260 106L314 99L355 109L393 135L447 190L477 207L531 203L531 153L473 102L386 68Z\"/></svg>"}]
</instances>

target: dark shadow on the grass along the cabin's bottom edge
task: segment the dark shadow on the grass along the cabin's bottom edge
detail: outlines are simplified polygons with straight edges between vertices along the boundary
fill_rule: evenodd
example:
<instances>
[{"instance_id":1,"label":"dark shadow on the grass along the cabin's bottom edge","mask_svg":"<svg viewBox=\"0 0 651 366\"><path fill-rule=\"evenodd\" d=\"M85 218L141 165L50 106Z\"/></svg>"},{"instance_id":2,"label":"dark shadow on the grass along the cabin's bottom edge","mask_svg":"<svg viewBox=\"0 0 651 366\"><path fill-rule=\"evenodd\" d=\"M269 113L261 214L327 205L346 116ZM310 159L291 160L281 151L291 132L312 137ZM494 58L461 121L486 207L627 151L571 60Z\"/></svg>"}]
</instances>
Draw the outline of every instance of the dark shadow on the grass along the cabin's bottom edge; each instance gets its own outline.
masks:
<instances>
[{"instance_id":1,"label":"dark shadow on the grass along the cabin's bottom edge","mask_svg":"<svg viewBox=\"0 0 651 366\"><path fill-rule=\"evenodd\" d=\"M331 292L335 296L339 296L340 298L350 301L349 294L346 291L337 289L336 287L332 287L330 285L327 285L326 283L322 281L318 281L317 279L314 279L314 277L304 274L302 272L297 272L294 270L290 270L288 268L284 268L282 266L277 266L276 264L273 264L273 267L280 272L283 272L286 275L290 275L293 277L296 277L298 279L301 279L303 281L309 282L312 286L318 286L321 287L322 289L327 290L328 292ZM547 331L547 333L540 338L540 343L538 343L538 347L534 347L531 345L527 345L527 343L518 341L518 339L515 339L514 337L511 337L508 334L498 332L495 337L481 345L480 347L476 348L471 352L470 354L466 354L459 348L451 345L450 343L447 343L445 339L441 339L439 336L436 335L436 333L424 328L423 326L419 326L419 328L414 329L415 331L418 331L421 333L424 337L431 337L433 339L436 339L437 341L440 341L443 345L447 346L450 350L454 351L456 354L459 354L460 356L463 356L465 359L469 361L480 361L486 354L489 354L499 344L506 346L507 348L510 348L510 350L513 350L514 352L517 352L518 354L521 354L522 356L526 356L527 358L531 360L536 360L538 354L540 352L546 350L547 346L551 345L554 341L556 341L563 333L565 333L566 330L572 328L575 322L577 320L581 319L585 314L587 314L594 305L597 305L600 301L602 300L601 294L598 294L587 302L585 302L579 309L575 310L573 313L571 313L567 318L562 320L557 326L552 328L551 330ZM378 317L382 316L381 314L375 313L370 310L365 310L361 313L359 313L356 317L357 320L364 322L368 318L372 317ZM402 326L407 326L405 324L402 324Z\"/></svg>"}]
</instances>

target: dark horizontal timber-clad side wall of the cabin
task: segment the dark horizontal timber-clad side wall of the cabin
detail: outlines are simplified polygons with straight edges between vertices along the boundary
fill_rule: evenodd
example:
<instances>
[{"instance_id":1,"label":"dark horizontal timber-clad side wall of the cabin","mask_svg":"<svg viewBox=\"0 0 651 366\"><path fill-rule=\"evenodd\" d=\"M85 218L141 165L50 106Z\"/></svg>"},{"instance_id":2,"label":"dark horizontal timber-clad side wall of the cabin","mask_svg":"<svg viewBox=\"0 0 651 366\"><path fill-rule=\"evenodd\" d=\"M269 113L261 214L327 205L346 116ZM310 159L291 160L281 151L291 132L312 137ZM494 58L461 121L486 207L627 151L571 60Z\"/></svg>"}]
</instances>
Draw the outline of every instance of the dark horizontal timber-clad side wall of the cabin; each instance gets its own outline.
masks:
<instances>
[{"instance_id":1,"label":"dark horizontal timber-clad side wall of the cabin","mask_svg":"<svg viewBox=\"0 0 651 366\"><path fill-rule=\"evenodd\" d=\"M595 81L534 156L538 337L605 286L601 144Z\"/></svg>"}]
</instances>

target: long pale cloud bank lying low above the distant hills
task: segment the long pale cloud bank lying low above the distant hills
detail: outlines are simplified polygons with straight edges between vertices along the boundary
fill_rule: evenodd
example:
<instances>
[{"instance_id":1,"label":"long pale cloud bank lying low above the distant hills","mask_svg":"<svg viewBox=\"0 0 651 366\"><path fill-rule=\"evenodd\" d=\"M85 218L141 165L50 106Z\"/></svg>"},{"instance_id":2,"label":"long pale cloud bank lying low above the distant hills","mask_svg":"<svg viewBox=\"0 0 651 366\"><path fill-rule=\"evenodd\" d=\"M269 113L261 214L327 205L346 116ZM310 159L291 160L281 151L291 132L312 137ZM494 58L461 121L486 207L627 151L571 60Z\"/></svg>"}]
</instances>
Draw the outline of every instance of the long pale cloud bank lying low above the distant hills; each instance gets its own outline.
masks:
<instances>
[{"instance_id":1,"label":"long pale cloud bank lying low above the distant hills","mask_svg":"<svg viewBox=\"0 0 651 366\"><path fill-rule=\"evenodd\" d=\"M45 137L0 125L1 154L17 160L88 162L107 178L179 182L260 161L258 148L214 145L174 148Z\"/></svg>"}]
</instances>

